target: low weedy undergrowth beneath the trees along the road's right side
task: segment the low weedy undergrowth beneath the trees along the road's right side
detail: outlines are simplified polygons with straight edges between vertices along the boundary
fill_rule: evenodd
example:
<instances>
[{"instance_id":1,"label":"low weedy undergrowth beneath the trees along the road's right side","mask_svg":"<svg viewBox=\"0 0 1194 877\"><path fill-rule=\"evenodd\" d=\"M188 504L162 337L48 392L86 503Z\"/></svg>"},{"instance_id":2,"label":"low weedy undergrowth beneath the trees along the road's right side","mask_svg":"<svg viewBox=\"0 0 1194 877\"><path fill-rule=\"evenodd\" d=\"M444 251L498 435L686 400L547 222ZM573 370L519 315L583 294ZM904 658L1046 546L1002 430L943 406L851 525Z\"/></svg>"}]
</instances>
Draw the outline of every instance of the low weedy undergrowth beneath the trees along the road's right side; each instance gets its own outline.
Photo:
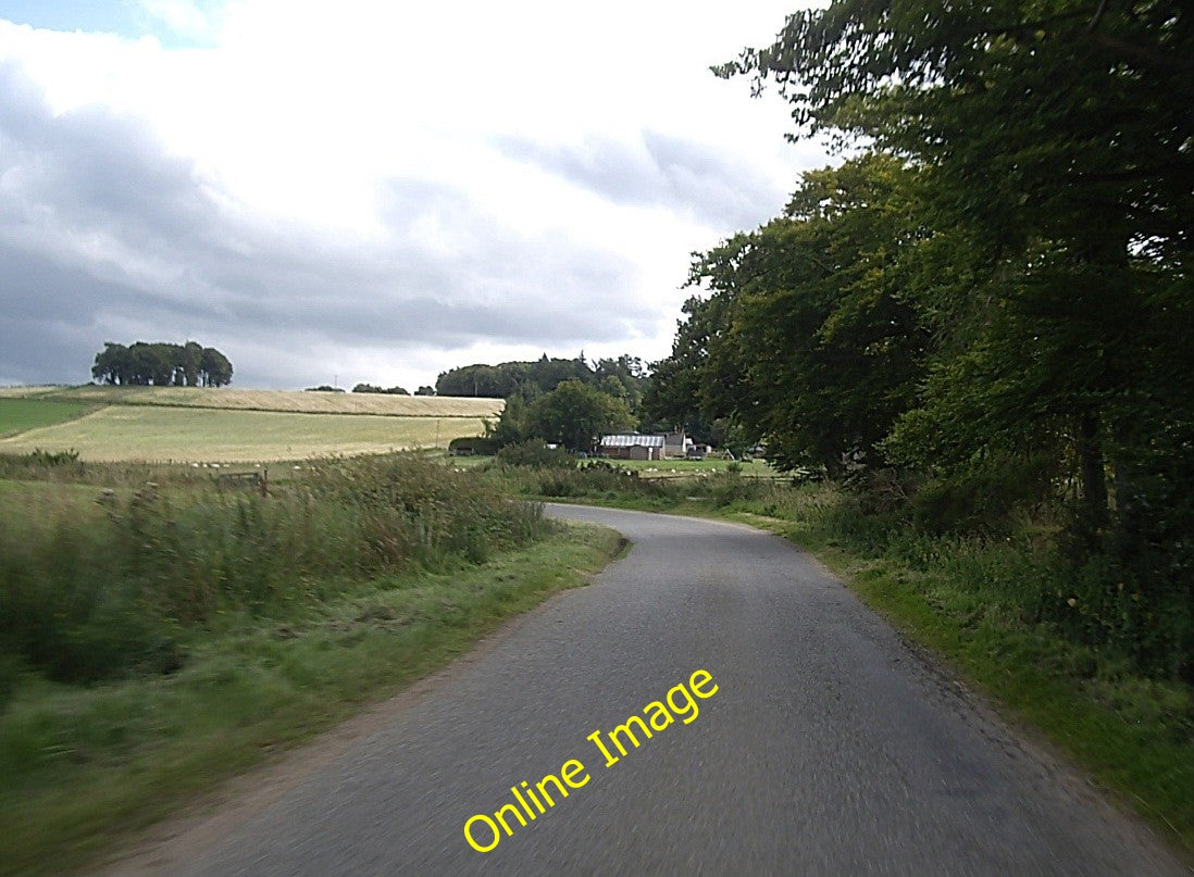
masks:
<instances>
[{"instance_id":1,"label":"low weedy undergrowth beneath the trees along the road's right side","mask_svg":"<svg viewBox=\"0 0 1194 877\"><path fill-rule=\"evenodd\" d=\"M1027 513L1021 504L1017 512L1016 504L980 496L984 483L996 482L938 481L916 490L894 473L872 473L849 490L831 483L771 486L753 507L829 535L860 556L891 558L927 574L925 581L940 576L943 583L927 595L938 611L1002 613L1064 637L1091 661L1194 681L1187 555L1145 538L1131 539L1131 549L1113 538L1109 550L1078 551L1064 538L1063 519L1050 517L1052 509ZM924 515L930 508L933 520L950 532L935 532L923 517L909 526L910 509ZM1156 514L1171 509L1162 506ZM1134 514L1144 527L1147 511L1124 501L1118 513Z\"/></svg>"}]
</instances>

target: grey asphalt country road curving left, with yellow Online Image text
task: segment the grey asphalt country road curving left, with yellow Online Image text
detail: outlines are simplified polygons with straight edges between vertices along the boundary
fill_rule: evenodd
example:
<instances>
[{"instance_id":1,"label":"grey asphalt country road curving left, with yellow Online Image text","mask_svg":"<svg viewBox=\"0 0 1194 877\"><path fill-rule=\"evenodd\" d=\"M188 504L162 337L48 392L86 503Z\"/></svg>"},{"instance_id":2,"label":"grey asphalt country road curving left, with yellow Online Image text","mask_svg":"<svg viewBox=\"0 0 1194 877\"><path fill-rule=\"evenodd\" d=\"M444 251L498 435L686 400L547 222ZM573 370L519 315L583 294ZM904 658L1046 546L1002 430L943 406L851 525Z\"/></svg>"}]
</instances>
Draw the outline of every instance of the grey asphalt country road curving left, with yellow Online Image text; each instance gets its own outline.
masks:
<instances>
[{"instance_id":1,"label":"grey asphalt country road curving left, with yellow Online Image text","mask_svg":"<svg viewBox=\"0 0 1194 877\"><path fill-rule=\"evenodd\" d=\"M634 546L111 873L1188 873L781 539L549 511Z\"/></svg>"}]
</instances>

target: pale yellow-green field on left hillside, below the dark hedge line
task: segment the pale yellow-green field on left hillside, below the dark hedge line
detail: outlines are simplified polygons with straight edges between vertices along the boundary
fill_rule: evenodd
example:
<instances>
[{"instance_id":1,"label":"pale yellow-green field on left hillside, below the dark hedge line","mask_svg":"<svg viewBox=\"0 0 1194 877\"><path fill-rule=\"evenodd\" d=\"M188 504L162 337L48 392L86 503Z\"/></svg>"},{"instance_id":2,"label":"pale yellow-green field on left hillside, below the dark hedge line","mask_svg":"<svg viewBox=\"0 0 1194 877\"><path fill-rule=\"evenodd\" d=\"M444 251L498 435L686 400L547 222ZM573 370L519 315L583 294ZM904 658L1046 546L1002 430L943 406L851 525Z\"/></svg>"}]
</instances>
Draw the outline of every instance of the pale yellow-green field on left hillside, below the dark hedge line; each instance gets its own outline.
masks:
<instances>
[{"instance_id":1,"label":"pale yellow-green field on left hillside, below the dark hedge line","mask_svg":"<svg viewBox=\"0 0 1194 877\"><path fill-rule=\"evenodd\" d=\"M478 436L484 428L479 416L296 414L112 404L78 420L0 439L0 452L75 450L81 459L96 462L265 463L444 447L456 437Z\"/></svg>"}]
</instances>

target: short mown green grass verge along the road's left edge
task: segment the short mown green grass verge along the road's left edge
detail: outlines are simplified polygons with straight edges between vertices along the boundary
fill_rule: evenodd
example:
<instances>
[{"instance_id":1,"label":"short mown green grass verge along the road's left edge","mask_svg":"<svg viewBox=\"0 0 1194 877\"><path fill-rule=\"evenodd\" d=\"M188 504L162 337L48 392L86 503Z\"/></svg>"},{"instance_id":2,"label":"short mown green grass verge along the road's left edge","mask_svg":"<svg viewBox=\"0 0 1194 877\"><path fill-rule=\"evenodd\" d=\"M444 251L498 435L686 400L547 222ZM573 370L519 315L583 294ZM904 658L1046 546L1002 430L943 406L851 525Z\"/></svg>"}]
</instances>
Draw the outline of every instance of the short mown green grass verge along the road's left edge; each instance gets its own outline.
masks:
<instances>
[{"instance_id":1,"label":"short mown green grass verge along the road's left edge","mask_svg":"<svg viewBox=\"0 0 1194 877\"><path fill-rule=\"evenodd\" d=\"M184 669L94 688L44 680L0 717L0 873L78 867L195 793L390 696L618 551L568 526L479 566L345 582L285 623L246 619Z\"/></svg>"}]
</instances>

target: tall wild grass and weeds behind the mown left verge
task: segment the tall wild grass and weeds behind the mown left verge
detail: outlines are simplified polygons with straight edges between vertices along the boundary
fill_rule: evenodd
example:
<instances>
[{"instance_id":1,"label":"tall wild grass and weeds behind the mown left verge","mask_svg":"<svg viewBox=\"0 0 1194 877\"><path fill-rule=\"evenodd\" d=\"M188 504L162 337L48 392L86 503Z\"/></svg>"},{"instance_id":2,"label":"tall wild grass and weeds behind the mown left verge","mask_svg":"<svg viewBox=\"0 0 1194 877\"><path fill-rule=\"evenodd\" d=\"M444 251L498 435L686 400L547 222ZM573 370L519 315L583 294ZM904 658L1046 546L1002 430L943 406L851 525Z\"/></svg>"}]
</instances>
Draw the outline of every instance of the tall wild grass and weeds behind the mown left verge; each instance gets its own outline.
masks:
<instances>
[{"instance_id":1,"label":"tall wild grass and weeds behind the mown left verge","mask_svg":"<svg viewBox=\"0 0 1194 877\"><path fill-rule=\"evenodd\" d=\"M25 671L172 672L192 628L301 611L340 579L480 563L549 526L541 507L417 457L293 475L269 496L203 480L0 493L0 697Z\"/></svg>"}]
</instances>

